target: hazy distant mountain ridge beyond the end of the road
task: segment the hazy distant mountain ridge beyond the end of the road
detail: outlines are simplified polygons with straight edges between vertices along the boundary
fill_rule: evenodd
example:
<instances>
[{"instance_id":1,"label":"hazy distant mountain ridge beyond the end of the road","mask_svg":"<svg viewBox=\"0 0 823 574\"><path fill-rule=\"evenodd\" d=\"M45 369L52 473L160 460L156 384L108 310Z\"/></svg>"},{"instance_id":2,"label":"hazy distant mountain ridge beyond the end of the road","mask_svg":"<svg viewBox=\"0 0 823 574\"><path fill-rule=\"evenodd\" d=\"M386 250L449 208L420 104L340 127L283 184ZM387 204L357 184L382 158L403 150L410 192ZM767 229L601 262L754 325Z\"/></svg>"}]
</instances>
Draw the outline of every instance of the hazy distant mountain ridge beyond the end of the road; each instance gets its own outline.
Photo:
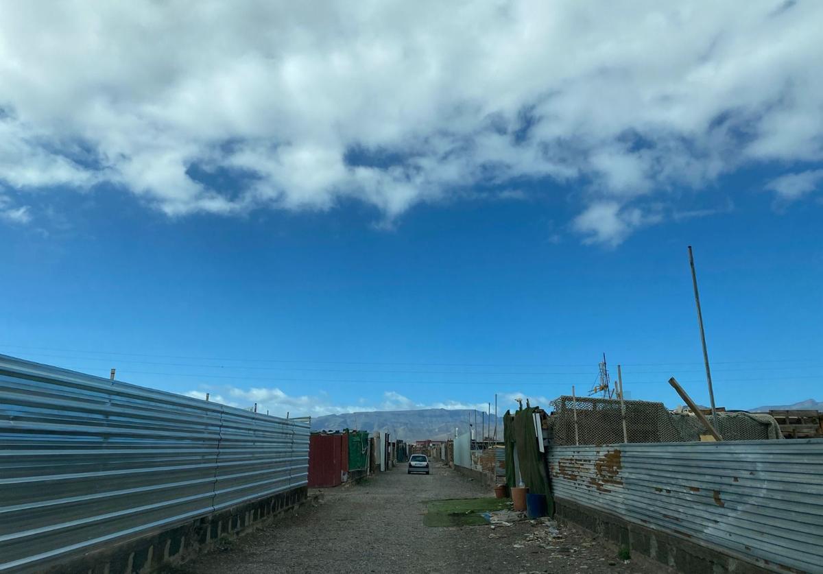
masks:
<instances>
[{"instance_id":1,"label":"hazy distant mountain ridge beyond the end of the road","mask_svg":"<svg viewBox=\"0 0 823 574\"><path fill-rule=\"evenodd\" d=\"M485 413L484 413L485 415ZM328 414L312 419L312 430L358 430L387 431L390 437L404 441L418 441L430 438L444 440L454 437L454 429L460 433L468 429L469 420L474 424L474 410L418 409L418 410L374 410L364 413ZM489 425L486 419L486 425ZM491 415L491 431L494 433L495 415ZM477 437L481 436L481 413L477 411ZM503 437L503 419L497 419L497 437Z\"/></svg>"}]
</instances>

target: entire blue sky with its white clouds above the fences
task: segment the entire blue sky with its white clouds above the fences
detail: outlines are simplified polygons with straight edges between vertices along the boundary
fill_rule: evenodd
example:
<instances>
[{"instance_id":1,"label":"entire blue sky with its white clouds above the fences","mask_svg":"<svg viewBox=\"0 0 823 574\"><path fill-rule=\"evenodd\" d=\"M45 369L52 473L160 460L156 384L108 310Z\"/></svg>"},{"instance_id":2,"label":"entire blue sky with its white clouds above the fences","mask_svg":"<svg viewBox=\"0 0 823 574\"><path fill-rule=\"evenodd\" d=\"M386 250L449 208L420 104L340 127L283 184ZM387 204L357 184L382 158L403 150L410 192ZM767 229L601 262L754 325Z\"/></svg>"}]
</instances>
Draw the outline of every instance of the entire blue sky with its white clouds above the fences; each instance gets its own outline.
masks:
<instances>
[{"instance_id":1,"label":"entire blue sky with its white clouds above the fences","mask_svg":"<svg viewBox=\"0 0 823 574\"><path fill-rule=\"evenodd\" d=\"M3 9L0 352L314 415L605 352L705 403L691 244L718 405L823 398L819 4L244 6Z\"/></svg>"}]
</instances>

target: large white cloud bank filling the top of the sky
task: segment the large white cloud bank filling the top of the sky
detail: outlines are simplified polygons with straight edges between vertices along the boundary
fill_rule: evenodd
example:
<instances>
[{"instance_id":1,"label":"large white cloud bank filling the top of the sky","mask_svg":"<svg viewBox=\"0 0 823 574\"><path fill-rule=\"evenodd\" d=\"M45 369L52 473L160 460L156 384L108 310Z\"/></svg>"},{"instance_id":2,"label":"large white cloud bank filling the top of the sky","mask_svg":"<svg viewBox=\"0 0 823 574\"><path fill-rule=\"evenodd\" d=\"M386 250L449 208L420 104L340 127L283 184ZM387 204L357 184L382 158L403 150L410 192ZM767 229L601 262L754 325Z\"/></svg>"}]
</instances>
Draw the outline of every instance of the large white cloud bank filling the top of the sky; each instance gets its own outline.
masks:
<instances>
[{"instance_id":1,"label":"large white cloud bank filling the top of the sky","mask_svg":"<svg viewBox=\"0 0 823 574\"><path fill-rule=\"evenodd\" d=\"M353 197L391 220L548 178L615 244L653 222L639 198L823 159L823 4L782 6L7 4L0 183L114 183L172 216Z\"/></svg>"}]
</instances>

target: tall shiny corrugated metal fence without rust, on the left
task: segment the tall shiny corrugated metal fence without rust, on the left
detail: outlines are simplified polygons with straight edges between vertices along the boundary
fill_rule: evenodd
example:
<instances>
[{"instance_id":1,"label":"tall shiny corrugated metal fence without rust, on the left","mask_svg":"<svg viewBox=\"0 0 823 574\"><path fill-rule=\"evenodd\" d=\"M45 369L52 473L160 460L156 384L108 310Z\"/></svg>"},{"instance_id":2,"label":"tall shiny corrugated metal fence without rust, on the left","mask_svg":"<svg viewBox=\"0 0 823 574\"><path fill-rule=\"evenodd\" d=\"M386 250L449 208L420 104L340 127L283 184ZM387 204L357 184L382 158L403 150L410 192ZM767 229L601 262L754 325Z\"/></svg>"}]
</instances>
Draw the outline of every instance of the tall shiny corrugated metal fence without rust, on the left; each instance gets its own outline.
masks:
<instances>
[{"instance_id":1,"label":"tall shiny corrugated metal fence without rust, on the left","mask_svg":"<svg viewBox=\"0 0 823 574\"><path fill-rule=\"evenodd\" d=\"M0 571L307 482L309 423L0 355Z\"/></svg>"}]
</instances>

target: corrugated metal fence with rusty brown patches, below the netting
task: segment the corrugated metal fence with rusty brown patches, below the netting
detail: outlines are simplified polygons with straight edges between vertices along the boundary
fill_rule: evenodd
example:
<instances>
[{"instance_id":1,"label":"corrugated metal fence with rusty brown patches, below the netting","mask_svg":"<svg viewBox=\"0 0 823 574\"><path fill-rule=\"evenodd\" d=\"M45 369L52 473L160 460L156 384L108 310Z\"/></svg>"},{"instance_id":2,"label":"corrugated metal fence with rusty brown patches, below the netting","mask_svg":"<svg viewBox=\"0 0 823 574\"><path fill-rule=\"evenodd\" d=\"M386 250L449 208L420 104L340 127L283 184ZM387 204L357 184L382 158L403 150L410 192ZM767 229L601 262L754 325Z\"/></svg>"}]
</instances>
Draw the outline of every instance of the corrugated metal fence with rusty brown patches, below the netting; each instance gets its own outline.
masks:
<instances>
[{"instance_id":1,"label":"corrugated metal fence with rusty brown patches, below the netting","mask_svg":"<svg viewBox=\"0 0 823 574\"><path fill-rule=\"evenodd\" d=\"M556 498L823 572L823 439L554 447L550 461Z\"/></svg>"}]
</instances>

